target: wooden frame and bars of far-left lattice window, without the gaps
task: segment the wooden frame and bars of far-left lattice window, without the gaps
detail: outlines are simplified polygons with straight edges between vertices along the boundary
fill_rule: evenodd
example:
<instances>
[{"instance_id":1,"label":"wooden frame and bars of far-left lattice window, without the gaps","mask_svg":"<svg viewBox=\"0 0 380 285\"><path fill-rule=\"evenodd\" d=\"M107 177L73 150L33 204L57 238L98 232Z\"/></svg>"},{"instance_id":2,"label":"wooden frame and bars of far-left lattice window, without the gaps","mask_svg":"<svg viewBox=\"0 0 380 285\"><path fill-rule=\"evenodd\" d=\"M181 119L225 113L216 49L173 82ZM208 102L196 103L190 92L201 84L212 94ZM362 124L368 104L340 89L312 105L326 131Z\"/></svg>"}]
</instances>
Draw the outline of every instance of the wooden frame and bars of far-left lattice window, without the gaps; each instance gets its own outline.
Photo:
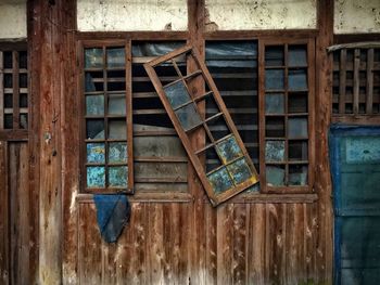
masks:
<instances>
[{"instance_id":1,"label":"wooden frame and bars of far-left lattice window, without the gaps","mask_svg":"<svg viewBox=\"0 0 380 285\"><path fill-rule=\"evenodd\" d=\"M12 68L5 69L3 64L3 53L4 52L12 52ZM29 118L29 102L30 102L30 94L29 94L29 70L28 66L26 69L20 69L18 67L18 52L26 52L27 56L27 42L26 41L18 41L18 42L8 42L8 41L0 41L0 140L9 140L9 141L26 141L28 139L28 126L27 128L21 128L20 125L20 116L21 114L26 114L27 121L30 120ZM28 56L27 56L28 57ZM28 60L28 59L27 59ZM27 63L28 64L28 63ZM26 74L27 76L27 87L20 89L20 82L18 82L18 76L20 72L22 74ZM10 90L7 90L3 86L3 76L4 74L12 74L12 92L9 92ZM5 93L12 93L12 108L5 109L4 108L4 94ZM24 93L27 94L27 107L20 107L20 94ZM13 116L13 127L9 129L4 129L4 115L5 114L12 114ZM28 124L27 124L28 125Z\"/></svg>"}]
</instances>

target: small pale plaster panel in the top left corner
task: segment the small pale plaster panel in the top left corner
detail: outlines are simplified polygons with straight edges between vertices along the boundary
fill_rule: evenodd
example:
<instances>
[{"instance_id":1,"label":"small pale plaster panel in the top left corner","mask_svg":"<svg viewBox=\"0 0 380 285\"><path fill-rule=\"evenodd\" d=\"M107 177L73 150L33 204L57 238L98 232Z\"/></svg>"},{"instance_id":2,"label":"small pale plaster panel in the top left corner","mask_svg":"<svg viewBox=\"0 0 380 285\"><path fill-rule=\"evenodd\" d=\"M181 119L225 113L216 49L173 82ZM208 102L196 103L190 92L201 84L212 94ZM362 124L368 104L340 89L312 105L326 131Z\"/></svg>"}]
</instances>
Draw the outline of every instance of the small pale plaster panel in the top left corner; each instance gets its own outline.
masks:
<instances>
[{"instance_id":1,"label":"small pale plaster panel in the top left corner","mask_svg":"<svg viewBox=\"0 0 380 285\"><path fill-rule=\"evenodd\" d=\"M0 0L0 39L26 38L26 0Z\"/></svg>"}]
</instances>

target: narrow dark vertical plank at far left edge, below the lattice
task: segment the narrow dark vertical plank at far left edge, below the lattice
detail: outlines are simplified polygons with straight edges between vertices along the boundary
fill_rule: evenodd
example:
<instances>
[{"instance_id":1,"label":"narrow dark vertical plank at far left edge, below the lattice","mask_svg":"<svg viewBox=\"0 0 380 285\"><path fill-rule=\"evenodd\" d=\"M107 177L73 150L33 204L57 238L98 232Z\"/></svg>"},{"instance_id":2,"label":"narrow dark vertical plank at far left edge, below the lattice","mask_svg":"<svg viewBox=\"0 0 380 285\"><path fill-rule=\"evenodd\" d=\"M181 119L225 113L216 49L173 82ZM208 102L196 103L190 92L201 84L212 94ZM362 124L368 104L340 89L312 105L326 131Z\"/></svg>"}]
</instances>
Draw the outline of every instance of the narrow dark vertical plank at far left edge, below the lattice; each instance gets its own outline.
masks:
<instances>
[{"instance_id":1,"label":"narrow dark vertical plank at far left edge, below the lattice","mask_svg":"<svg viewBox=\"0 0 380 285\"><path fill-rule=\"evenodd\" d=\"M0 141L0 282L10 283L9 256L9 197L8 197L8 143Z\"/></svg>"}]
</instances>

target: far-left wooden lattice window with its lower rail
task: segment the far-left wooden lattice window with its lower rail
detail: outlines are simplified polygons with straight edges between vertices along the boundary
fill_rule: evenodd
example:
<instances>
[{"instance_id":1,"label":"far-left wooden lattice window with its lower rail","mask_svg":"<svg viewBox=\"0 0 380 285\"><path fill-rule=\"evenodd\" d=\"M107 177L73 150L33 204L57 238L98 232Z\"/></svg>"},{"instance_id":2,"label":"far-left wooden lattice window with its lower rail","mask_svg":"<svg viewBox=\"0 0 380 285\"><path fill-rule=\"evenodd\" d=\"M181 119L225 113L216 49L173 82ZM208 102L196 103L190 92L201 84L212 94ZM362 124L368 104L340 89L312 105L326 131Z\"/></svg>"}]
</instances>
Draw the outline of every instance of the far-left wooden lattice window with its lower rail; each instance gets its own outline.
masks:
<instances>
[{"instance_id":1,"label":"far-left wooden lattice window with its lower rail","mask_svg":"<svg viewBox=\"0 0 380 285\"><path fill-rule=\"evenodd\" d=\"M11 54L12 66L3 66L5 56ZM24 56L24 64L21 66L21 54ZM12 86L5 87L4 77L11 75ZM20 87L20 76L25 76L25 87ZM0 42L0 137L11 140L26 140L28 129L29 108L29 78L28 56L26 41ZM12 96L12 106L5 105L7 94ZM26 96L22 99L21 96ZM24 104L26 103L26 104ZM23 105L22 105L23 104ZM12 126L7 127L7 116L11 116ZM22 118L23 117L23 118ZM24 122L23 122L24 120Z\"/></svg>"}]
</instances>

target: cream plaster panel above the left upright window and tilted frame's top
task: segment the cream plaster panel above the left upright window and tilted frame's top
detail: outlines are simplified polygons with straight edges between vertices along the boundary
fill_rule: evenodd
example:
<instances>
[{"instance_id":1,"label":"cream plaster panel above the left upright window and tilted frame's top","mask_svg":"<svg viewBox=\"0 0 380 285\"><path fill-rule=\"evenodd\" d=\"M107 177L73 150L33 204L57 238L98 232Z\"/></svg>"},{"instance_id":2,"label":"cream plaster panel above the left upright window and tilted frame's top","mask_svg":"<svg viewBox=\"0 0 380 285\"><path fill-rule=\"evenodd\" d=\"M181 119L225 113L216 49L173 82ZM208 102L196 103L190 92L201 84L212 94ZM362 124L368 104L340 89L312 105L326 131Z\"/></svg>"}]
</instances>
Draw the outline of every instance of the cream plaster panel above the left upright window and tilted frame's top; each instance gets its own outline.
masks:
<instances>
[{"instance_id":1,"label":"cream plaster panel above the left upright window and tilted frame's top","mask_svg":"<svg viewBox=\"0 0 380 285\"><path fill-rule=\"evenodd\" d=\"M186 0L78 0L81 31L186 30Z\"/></svg>"}]
</instances>

